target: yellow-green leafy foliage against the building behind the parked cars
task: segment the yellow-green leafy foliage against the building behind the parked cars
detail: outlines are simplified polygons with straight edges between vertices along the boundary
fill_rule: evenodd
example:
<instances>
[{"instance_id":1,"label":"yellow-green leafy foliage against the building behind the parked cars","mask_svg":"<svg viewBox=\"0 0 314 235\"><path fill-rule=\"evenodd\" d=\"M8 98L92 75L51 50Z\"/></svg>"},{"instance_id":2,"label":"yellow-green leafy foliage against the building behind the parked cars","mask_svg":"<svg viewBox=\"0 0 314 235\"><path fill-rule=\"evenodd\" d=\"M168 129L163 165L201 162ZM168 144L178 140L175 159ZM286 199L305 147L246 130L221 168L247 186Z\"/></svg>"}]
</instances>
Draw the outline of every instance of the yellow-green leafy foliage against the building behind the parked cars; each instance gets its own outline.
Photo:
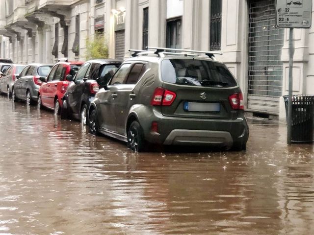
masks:
<instances>
[{"instance_id":1,"label":"yellow-green leafy foliage against the building behind the parked cars","mask_svg":"<svg viewBox=\"0 0 314 235\"><path fill-rule=\"evenodd\" d=\"M108 58L108 46L104 34L95 34L93 40L86 41L86 60Z\"/></svg>"}]
</instances>

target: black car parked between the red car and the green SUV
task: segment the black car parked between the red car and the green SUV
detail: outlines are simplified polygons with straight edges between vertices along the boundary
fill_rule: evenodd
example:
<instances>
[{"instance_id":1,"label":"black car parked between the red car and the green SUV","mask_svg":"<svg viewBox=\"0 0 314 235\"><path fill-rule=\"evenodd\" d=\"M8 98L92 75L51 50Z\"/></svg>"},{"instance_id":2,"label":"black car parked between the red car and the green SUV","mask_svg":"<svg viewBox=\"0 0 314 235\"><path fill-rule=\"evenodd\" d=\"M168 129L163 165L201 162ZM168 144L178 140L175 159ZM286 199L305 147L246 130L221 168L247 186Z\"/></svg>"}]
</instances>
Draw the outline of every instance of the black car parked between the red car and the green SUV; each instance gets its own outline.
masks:
<instances>
[{"instance_id":1,"label":"black car parked between the red car and the green SUV","mask_svg":"<svg viewBox=\"0 0 314 235\"><path fill-rule=\"evenodd\" d=\"M105 74L111 76L121 63L119 60L98 59L83 64L63 96L61 118L75 118L86 124L89 105L99 90L96 79Z\"/></svg>"}]
</instances>

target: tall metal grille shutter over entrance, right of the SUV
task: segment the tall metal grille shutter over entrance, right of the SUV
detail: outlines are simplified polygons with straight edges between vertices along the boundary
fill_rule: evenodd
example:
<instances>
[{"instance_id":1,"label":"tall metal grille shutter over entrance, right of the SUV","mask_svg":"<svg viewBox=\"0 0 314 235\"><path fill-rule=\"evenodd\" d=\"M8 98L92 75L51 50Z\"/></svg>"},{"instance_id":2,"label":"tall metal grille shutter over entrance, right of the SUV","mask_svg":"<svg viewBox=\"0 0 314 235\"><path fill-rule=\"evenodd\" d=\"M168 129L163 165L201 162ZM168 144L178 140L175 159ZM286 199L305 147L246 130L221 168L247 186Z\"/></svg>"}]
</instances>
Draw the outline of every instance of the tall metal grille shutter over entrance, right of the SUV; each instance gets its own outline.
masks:
<instances>
[{"instance_id":1,"label":"tall metal grille shutter over entrance, right of the SUV","mask_svg":"<svg viewBox=\"0 0 314 235\"><path fill-rule=\"evenodd\" d=\"M275 0L249 1L248 109L279 114L284 29L276 28Z\"/></svg>"}]
</instances>

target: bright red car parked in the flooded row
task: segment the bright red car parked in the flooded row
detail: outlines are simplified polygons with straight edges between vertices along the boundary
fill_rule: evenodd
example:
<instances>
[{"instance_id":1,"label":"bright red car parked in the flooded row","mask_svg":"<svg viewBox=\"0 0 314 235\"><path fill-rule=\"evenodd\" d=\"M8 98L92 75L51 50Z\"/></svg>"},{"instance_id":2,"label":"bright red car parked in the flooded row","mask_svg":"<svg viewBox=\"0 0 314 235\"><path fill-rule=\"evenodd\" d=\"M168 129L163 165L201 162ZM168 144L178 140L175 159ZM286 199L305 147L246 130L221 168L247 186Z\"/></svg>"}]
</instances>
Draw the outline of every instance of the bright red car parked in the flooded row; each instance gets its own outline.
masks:
<instances>
[{"instance_id":1,"label":"bright red car parked in the flooded row","mask_svg":"<svg viewBox=\"0 0 314 235\"><path fill-rule=\"evenodd\" d=\"M80 61L62 61L56 63L47 79L43 78L43 84L38 91L38 107L43 106L54 110L54 114L60 114L62 98L67 91L69 81L77 73L79 67L84 62Z\"/></svg>"}]
</instances>

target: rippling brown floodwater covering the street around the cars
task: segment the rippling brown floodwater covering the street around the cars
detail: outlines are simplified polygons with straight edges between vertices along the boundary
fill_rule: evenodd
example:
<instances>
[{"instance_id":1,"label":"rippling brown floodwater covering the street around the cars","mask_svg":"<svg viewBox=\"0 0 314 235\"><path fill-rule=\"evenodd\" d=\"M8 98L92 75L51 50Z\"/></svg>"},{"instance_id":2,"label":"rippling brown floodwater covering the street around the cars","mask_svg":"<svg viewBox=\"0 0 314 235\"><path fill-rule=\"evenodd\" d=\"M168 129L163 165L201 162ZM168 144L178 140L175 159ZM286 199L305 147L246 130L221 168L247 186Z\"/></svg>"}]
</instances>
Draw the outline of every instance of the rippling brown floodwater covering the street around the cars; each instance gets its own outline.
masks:
<instances>
[{"instance_id":1,"label":"rippling brown floodwater covering the street around the cars","mask_svg":"<svg viewBox=\"0 0 314 235\"><path fill-rule=\"evenodd\" d=\"M314 145L249 119L246 152L134 153L0 97L0 235L309 235Z\"/></svg>"}]
</instances>

